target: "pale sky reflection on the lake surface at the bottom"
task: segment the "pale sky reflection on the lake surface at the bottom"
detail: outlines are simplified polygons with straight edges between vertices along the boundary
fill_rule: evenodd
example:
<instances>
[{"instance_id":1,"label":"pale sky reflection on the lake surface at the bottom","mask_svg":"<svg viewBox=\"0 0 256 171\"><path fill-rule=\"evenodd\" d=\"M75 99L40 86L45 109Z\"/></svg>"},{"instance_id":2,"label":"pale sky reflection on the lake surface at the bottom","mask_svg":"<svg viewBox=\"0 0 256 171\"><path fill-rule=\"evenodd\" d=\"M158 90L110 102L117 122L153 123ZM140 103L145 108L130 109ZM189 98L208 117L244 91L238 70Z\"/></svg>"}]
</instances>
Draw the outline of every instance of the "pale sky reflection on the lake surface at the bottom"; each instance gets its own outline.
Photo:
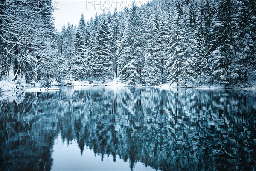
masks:
<instances>
[{"instance_id":1,"label":"pale sky reflection on the lake surface at the bottom","mask_svg":"<svg viewBox=\"0 0 256 171\"><path fill-rule=\"evenodd\" d=\"M58 143L53 147L52 171L129 171L130 161L124 162L116 155L115 159L112 155L94 154L93 150L85 148L83 154L80 154L80 148L76 140L73 139L67 148L67 141ZM102 161L102 162L101 162ZM154 168L147 167L141 162L136 162L134 171L155 171Z\"/></svg>"}]
</instances>

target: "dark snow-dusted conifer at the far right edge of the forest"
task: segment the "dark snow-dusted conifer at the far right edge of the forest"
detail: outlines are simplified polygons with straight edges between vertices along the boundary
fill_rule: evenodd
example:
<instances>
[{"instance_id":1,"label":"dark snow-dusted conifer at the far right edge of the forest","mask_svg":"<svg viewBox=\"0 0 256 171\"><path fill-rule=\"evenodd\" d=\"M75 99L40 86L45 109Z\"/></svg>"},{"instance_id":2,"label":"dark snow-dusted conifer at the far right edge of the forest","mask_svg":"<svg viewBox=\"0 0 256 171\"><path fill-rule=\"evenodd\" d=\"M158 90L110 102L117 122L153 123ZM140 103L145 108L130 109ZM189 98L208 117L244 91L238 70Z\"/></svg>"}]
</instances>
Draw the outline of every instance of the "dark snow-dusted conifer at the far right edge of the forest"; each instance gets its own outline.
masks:
<instances>
[{"instance_id":1,"label":"dark snow-dusted conifer at the far right edge of the forest","mask_svg":"<svg viewBox=\"0 0 256 171\"><path fill-rule=\"evenodd\" d=\"M254 4L254 5L253 5ZM233 68L236 68L239 79L235 84L248 85L248 81L256 79L256 15L248 14L253 12L255 1L243 0L239 3L237 12L238 21L246 19L237 28L235 33L236 47Z\"/></svg>"}]
</instances>

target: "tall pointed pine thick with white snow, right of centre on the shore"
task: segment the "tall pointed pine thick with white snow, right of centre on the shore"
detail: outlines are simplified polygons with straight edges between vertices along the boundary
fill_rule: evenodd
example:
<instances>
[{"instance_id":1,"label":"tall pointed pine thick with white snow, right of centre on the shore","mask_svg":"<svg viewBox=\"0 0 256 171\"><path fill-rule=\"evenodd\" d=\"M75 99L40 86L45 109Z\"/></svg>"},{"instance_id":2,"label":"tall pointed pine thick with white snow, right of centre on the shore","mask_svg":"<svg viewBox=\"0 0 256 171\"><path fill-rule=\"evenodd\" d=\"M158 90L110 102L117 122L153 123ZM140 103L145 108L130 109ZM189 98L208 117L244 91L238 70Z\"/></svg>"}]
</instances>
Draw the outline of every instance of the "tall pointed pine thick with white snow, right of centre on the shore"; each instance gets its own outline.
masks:
<instances>
[{"instance_id":1,"label":"tall pointed pine thick with white snow, right of centre on the shore","mask_svg":"<svg viewBox=\"0 0 256 171\"><path fill-rule=\"evenodd\" d=\"M170 83L186 85L187 78L191 73L187 55L189 51L189 38L186 33L186 17L180 4L176 4L173 10L172 42L169 47L169 58L166 60L167 80ZM189 67L189 68L188 68ZM180 81L182 81L180 83Z\"/></svg>"}]
</instances>

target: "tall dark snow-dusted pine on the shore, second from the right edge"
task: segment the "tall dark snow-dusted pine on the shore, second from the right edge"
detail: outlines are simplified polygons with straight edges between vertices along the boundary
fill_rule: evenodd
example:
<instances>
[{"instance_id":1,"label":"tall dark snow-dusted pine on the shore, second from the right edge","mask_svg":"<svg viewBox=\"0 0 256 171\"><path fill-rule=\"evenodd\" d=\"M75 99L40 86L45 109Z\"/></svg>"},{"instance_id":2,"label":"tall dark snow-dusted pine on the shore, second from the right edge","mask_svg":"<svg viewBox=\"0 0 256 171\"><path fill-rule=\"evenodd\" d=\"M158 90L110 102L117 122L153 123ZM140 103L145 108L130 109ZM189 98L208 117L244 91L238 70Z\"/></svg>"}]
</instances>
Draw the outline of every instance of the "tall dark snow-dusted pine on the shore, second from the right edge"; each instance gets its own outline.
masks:
<instances>
[{"instance_id":1,"label":"tall dark snow-dusted pine on the shore, second from the right edge","mask_svg":"<svg viewBox=\"0 0 256 171\"><path fill-rule=\"evenodd\" d=\"M230 76L232 73L232 58L234 57L234 36L233 33L228 32L228 30L232 26L234 6L232 0L228 2L226 2L226 0L219 0L218 3L220 9L217 12L216 21L213 26L213 34L216 37L215 43L218 45L212 53L213 79L217 84L230 86L232 82Z\"/></svg>"}]
</instances>

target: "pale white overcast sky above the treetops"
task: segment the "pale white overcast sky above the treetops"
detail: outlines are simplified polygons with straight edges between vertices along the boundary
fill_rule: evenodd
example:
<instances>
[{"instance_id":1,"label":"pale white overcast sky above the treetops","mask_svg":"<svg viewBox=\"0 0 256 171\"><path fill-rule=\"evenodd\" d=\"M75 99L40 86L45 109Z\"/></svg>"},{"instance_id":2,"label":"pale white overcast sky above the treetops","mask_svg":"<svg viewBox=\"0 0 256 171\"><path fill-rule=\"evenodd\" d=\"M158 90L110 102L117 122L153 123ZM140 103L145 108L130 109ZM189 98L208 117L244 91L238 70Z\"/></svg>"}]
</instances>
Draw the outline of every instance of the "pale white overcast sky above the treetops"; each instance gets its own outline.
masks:
<instances>
[{"instance_id":1,"label":"pale white overcast sky above the treetops","mask_svg":"<svg viewBox=\"0 0 256 171\"><path fill-rule=\"evenodd\" d=\"M147 0L135 0L138 6L147 3ZM90 20L96 12L102 13L105 9L113 12L115 7L118 11L131 7L132 0L52 0L54 7L53 17L55 18L55 27L61 31L62 26L67 23L78 25L81 14L84 14L85 20Z\"/></svg>"}]
</instances>

